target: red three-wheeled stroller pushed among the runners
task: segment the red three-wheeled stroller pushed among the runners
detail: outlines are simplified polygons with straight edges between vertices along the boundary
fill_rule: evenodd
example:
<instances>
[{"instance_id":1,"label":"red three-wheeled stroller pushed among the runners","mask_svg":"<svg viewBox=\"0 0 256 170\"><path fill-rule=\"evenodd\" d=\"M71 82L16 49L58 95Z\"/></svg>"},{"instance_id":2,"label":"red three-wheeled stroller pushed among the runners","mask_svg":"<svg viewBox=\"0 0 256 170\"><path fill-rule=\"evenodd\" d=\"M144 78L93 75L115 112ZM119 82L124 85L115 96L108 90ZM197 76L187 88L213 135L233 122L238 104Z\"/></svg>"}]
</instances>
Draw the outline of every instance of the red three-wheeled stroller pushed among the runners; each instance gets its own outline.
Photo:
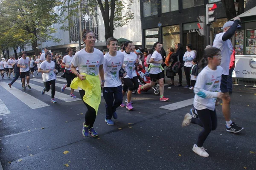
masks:
<instances>
[{"instance_id":1,"label":"red three-wheeled stroller pushed among the runners","mask_svg":"<svg viewBox=\"0 0 256 170\"><path fill-rule=\"evenodd\" d=\"M139 81L139 85L145 85L147 83L150 83L150 77L149 73L145 71L145 69L142 67L142 65L138 65L136 67L136 73ZM149 91L151 88L143 88L141 91ZM152 87L153 92L155 95L160 95L159 87L157 86L157 83ZM137 93L137 89L132 92L133 94Z\"/></svg>"}]
</instances>

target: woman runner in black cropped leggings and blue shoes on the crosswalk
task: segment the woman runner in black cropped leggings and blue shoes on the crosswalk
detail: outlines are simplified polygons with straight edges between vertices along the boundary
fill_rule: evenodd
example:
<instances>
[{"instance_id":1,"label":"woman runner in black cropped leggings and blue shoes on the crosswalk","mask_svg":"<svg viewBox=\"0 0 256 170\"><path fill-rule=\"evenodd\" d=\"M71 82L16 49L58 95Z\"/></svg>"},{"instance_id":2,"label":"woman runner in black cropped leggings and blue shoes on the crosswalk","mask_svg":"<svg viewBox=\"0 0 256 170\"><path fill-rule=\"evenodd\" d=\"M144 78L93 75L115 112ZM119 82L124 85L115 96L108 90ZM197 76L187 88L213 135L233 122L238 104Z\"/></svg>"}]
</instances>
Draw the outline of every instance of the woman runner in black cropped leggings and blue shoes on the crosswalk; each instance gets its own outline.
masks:
<instances>
[{"instance_id":1,"label":"woman runner in black cropped leggings and blue shoes on the crosswalk","mask_svg":"<svg viewBox=\"0 0 256 170\"><path fill-rule=\"evenodd\" d=\"M51 53L45 53L46 60L41 63L38 72L43 73L43 82L44 82L44 88L41 91L41 93L44 95L46 91L52 90L52 103L56 103L54 99L55 95L55 82L56 82L56 73L58 73L57 70L55 70L55 62L52 61L52 54Z\"/></svg>"}]
</instances>

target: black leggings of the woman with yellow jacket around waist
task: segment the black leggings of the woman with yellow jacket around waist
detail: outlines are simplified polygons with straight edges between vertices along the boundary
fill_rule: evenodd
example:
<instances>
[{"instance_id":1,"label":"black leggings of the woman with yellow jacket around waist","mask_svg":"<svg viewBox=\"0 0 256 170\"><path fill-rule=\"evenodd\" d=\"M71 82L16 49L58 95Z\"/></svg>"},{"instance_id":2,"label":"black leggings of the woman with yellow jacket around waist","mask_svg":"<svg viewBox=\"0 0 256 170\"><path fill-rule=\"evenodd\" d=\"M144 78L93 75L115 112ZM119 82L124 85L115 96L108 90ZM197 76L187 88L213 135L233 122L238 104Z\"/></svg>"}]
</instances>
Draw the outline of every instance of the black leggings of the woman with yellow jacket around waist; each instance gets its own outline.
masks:
<instances>
[{"instance_id":1,"label":"black leggings of the woman with yellow jacket around waist","mask_svg":"<svg viewBox=\"0 0 256 170\"><path fill-rule=\"evenodd\" d=\"M84 90L79 90L79 94L81 96L81 99L82 101L84 102L83 100L83 97L85 95L85 91ZM94 108L90 107L86 102L84 102L84 105L86 105L87 107L87 112L85 113L85 125L89 125L89 128L90 127L93 127L93 124L95 122L95 119L96 119L96 111Z\"/></svg>"}]
</instances>

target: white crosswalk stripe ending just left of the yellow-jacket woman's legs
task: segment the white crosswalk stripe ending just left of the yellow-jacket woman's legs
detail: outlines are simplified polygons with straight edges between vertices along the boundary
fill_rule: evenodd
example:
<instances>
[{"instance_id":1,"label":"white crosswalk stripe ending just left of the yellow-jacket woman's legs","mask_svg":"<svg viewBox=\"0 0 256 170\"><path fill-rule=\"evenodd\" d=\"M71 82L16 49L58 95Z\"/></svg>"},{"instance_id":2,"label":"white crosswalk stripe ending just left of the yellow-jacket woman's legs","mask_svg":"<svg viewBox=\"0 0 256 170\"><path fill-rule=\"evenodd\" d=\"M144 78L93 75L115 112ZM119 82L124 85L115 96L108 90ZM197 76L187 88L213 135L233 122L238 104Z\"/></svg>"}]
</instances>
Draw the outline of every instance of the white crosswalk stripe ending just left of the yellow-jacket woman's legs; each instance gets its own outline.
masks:
<instances>
[{"instance_id":1,"label":"white crosswalk stripe ending just left of the yellow-jacket woman's legs","mask_svg":"<svg viewBox=\"0 0 256 170\"><path fill-rule=\"evenodd\" d=\"M16 81L16 82L21 84L20 81ZM42 81L42 82L43 82L43 81ZM43 87L44 87L44 86L41 87L41 86L39 86L39 85L34 85L34 84L32 84L32 83L29 83L29 85L31 86L32 89L35 89L36 91L40 91L40 92L43 90ZM51 90L48 91L48 92L46 91L45 94L51 96ZM64 102L74 102L74 101L81 100L81 99L79 99L79 98L73 99L73 98L71 98L69 95L64 94L64 93L60 93L60 92L58 92L58 91L55 91L55 96L54 96L54 97L57 98L57 99L60 99L60 100L62 100L62 101L64 101Z\"/></svg>"}]
</instances>

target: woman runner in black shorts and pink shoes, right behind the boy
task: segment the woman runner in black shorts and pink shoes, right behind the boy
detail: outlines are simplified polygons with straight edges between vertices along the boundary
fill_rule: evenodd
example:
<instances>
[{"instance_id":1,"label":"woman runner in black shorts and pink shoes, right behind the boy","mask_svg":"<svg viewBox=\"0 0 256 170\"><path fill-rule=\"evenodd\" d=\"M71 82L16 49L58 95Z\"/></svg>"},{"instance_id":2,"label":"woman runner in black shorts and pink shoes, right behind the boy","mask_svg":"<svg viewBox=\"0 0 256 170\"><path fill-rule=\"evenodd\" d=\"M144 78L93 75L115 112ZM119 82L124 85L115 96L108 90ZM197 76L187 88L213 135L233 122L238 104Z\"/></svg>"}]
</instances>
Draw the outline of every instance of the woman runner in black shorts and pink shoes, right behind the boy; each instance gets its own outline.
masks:
<instances>
[{"instance_id":1,"label":"woman runner in black shorts and pink shoes, right behind the boy","mask_svg":"<svg viewBox=\"0 0 256 170\"><path fill-rule=\"evenodd\" d=\"M135 71L135 63L139 62L139 60L137 59L137 55L132 52L134 50L133 49L134 45L131 41L125 42L124 47L125 47L125 51L122 52L125 55L123 65L127 74L125 78L122 79L124 81L124 86L122 90L123 96L125 96L125 93L127 92L127 90L128 92L127 92L126 106L123 103L120 106L126 107L128 110L132 110L133 109L131 105L132 91L137 89L139 86L137 74Z\"/></svg>"}]
</instances>

